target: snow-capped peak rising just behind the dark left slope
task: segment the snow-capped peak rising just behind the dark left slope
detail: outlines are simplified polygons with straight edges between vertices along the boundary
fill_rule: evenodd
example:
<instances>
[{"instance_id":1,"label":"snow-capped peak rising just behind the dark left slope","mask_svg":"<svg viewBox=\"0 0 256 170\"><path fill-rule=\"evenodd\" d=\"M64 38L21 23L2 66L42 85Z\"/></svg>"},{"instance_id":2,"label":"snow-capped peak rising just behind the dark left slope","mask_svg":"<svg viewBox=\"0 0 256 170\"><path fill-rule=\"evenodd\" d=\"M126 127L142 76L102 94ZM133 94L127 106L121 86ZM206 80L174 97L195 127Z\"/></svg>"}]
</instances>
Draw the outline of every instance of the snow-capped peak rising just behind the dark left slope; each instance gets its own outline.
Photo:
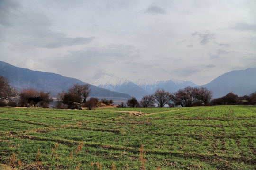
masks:
<instances>
[{"instance_id":1,"label":"snow-capped peak rising just behind the dark left slope","mask_svg":"<svg viewBox=\"0 0 256 170\"><path fill-rule=\"evenodd\" d=\"M147 94L146 90L132 83L128 79L119 78L113 74L97 74L89 82L92 85L105 88L111 91L126 93L140 100Z\"/></svg>"}]
</instances>

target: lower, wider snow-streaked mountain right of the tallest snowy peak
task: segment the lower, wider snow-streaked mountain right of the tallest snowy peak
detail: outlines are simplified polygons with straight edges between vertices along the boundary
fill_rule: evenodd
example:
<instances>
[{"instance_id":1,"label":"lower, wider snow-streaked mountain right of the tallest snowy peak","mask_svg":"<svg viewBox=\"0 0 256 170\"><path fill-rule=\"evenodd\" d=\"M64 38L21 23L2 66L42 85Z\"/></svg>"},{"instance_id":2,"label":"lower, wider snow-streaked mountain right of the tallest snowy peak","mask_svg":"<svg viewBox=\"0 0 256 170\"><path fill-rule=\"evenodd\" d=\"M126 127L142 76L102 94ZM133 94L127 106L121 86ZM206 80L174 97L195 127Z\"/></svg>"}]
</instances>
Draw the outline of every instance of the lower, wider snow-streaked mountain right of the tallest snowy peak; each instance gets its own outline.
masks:
<instances>
[{"instance_id":1,"label":"lower, wider snow-streaked mountain right of the tallest snowy peak","mask_svg":"<svg viewBox=\"0 0 256 170\"><path fill-rule=\"evenodd\" d=\"M138 86L145 89L148 93L153 94L158 88L165 89L168 92L176 92L179 89L183 89L186 86L195 87L198 86L191 81L183 80L167 80L167 81L154 81L152 79L140 79L136 82Z\"/></svg>"}]
</instances>

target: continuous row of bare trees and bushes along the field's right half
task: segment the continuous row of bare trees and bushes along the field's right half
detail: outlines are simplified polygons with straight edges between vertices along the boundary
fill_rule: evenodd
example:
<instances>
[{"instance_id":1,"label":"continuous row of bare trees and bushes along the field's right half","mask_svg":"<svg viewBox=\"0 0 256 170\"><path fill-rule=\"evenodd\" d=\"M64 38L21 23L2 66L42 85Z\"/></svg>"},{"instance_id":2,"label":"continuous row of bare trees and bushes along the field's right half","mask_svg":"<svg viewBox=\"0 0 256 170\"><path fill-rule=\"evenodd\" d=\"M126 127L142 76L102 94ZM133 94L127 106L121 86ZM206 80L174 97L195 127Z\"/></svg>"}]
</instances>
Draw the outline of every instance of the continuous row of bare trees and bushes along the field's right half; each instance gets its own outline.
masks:
<instances>
[{"instance_id":1,"label":"continuous row of bare trees and bushes along the field's right half","mask_svg":"<svg viewBox=\"0 0 256 170\"><path fill-rule=\"evenodd\" d=\"M140 101L135 97L128 99L126 104L122 102L119 107L191 107L209 105L256 105L256 93L250 96L238 97L234 93L212 99L212 91L205 87L190 87L170 93L164 89L157 89L154 94L144 96Z\"/></svg>"}]
</instances>

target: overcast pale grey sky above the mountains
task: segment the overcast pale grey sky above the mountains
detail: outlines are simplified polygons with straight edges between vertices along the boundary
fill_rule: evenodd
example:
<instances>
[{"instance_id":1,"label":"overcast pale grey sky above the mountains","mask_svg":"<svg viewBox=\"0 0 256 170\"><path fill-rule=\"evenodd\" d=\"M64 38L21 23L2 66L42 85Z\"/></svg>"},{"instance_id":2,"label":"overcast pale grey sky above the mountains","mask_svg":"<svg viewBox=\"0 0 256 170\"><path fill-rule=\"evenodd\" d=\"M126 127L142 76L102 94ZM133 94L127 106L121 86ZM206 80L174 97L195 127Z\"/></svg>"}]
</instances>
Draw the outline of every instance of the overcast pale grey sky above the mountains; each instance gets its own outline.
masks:
<instances>
[{"instance_id":1,"label":"overcast pale grey sky above the mountains","mask_svg":"<svg viewBox=\"0 0 256 170\"><path fill-rule=\"evenodd\" d=\"M0 60L88 82L256 67L256 0L0 0Z\"/></svg>"}]
</instances>

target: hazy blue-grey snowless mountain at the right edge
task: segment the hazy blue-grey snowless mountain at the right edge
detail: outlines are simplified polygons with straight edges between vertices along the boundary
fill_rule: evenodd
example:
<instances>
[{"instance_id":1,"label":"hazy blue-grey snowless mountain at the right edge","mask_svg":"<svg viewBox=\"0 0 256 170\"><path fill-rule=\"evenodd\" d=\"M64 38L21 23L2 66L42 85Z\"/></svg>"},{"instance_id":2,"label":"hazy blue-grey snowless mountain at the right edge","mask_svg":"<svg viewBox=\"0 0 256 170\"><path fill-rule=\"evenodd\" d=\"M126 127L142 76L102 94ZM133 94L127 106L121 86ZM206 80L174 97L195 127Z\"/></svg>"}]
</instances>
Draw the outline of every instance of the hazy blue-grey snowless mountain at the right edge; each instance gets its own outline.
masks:
<instances>
[{"instance_id":1,"label":"hazy blue-grey snowless mountain at the right edge","mask_svg":"<svg viewBox=\"0 0 256 170\"><path fill-rule=\"evenodd\" d=\"M256 91L256 68L227 72L202 86L213 92L213 98L229 92L238 96L249 95Z\"/></svg>"}]
</instances>

